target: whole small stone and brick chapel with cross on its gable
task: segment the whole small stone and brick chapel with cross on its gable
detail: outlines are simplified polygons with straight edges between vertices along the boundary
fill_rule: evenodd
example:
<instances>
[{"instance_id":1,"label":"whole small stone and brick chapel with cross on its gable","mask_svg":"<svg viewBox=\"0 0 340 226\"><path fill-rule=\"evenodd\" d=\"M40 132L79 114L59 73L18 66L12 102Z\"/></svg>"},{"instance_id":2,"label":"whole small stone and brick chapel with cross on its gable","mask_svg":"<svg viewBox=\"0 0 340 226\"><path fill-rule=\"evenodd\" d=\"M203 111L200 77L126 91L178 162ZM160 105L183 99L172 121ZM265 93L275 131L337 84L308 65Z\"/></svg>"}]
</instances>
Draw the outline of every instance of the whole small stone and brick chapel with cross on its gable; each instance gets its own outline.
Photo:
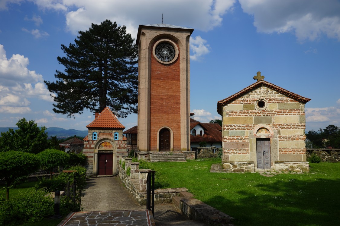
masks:
<instances>
[{"instance_id":1,"label":"whole small stone and brick chapel with cross on its gable","mask_svg":"<svg viewBox=\"0 0 340 226\"><path fill-rule=\"evenodd\" d=\"M305 104L309 98L257 82L217 102L222 116L222 163L227 171L309 171Z\"/></svg>"}]
</instances>

